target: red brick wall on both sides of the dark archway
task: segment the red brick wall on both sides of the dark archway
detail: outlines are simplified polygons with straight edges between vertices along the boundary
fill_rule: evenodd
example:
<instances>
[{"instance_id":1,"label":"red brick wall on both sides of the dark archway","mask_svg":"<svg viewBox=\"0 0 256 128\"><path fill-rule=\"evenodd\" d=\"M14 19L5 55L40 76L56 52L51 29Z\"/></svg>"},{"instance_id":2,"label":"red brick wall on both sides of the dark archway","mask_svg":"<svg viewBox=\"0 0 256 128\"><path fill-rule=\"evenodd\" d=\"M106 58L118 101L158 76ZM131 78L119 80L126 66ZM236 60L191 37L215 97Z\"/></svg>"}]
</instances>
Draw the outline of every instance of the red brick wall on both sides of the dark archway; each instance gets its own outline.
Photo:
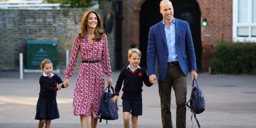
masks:
<instances>
[{"instance_id":1,"label":"red brick wall on both sides of the dark archway","mask_svg":"<svg viewBox=\"0 0 256 128\"><path fill-rule=\"evenodd\" d=\"M126 54L130 44L139 43L139 12L146 0L123 0L123 58L128 63ZM172 1L172 0L171 0ZM210 51L220 39L232 40L232 0L196 0L201 11L201 21L207 18L208 25L201 26L202 71L210 66ZM175 12L175 10L174 10ZM201 22L202 23L202 22Z\"/></svg>"}]
</instances>

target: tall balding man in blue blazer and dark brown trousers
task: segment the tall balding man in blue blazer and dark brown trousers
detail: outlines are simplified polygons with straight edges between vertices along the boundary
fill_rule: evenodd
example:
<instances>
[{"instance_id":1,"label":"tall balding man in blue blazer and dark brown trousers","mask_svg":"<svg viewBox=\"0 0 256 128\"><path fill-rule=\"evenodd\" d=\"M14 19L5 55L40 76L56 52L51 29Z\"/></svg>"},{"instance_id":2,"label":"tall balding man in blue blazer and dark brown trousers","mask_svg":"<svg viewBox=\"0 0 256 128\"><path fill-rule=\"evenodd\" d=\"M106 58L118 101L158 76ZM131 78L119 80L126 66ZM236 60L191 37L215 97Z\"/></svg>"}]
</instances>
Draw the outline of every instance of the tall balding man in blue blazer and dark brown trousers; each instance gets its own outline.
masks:
<instances>
[{"instance_id":1,"label":"tall balding man in blue blazer and dark brown trousers","mask_svg":"<svg viewBox=\"0 0 256 128\"><path fill-rule=\"evenodd\" d=\"M176 128L186 128L188 70L197 79L196 56L188 22L173 17L169 0L160 2L163 20L150 28L147 65L149 79L158 79L163 128L172 128L171 89L176 97ZM150 81L153 83L154 81Z\"/></svg>"}]
</instances>

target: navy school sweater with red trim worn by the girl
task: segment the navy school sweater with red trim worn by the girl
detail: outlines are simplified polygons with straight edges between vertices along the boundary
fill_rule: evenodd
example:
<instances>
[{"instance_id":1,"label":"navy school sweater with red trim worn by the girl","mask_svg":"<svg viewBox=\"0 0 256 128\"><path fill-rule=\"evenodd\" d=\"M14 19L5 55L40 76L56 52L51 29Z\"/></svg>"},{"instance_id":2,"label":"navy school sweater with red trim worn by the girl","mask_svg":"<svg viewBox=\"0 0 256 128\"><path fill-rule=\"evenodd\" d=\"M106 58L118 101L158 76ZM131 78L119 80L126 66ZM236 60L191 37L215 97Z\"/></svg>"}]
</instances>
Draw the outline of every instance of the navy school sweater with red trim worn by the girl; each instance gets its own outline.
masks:
<instances>
[{"instance_id":1,"label":"navy school sweater with red trim worn by the girl","mask_svg":"<svg viewBox=\"0 0 256 128\"><path fill-rule=\"evenodd\" d=\"M45 77L44 75L42 75L39 79L39 83L39 98L46 100L56 100L58 84L63 83L63 81L57 74L54 74L54 76L52 77ZM63 85L62 88L64 88Z\"/></svg>"}]
</instances>

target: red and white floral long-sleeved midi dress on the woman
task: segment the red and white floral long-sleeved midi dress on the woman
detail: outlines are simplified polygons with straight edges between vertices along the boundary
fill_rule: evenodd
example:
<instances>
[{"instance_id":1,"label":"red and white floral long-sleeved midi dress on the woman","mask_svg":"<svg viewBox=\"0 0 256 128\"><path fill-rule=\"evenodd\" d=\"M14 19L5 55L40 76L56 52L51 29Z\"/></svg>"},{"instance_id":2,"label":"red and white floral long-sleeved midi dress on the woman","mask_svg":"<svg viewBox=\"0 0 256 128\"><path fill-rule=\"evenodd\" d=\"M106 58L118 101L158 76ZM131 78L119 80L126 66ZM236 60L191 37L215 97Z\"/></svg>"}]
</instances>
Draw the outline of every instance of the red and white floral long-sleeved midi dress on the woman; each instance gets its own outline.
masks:
<instances>
[{"instance_id":1,"label":"red and white floral long-sleeved midi dress on the woman","mask_svg":"<svg viewBox=\"0 0 256 128\"><path fill-rule=\"evenodd\" d=\"M70 61L66 71L64 71L65 78L74 75L79 51L81 60L101 59L102 61L99 63L81 63L73 97L74 115L93 116L95 119L99 116L100 102L104 91L103 73L108 77L112 76L106 34L102 35L100 41L94 40L93 45L90 45L87 35L82 41L76 35Z\"/></svg>"}]
</instances>

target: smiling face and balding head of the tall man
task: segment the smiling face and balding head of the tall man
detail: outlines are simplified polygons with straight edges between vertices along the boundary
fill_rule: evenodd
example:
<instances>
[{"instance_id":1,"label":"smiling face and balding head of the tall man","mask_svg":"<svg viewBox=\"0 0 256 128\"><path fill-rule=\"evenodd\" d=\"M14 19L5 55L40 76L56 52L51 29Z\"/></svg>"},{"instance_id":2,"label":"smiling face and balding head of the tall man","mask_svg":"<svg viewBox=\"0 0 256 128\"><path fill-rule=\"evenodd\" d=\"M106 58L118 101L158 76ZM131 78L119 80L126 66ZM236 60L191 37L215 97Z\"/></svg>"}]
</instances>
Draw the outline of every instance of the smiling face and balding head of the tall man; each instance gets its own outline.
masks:
<instances>
[{"instance_id":1,"label":"smiling face and balding head of the tall man","mask_svg":"<svg viewBox=\"0 0 256 128\"><path fill-rule=\"evenodd\" d=\"M163 2L162 8L160 8L160 13L163 15L164 20L173 20L173 7L170 2Z\"/></svg>"}]
</instances>

